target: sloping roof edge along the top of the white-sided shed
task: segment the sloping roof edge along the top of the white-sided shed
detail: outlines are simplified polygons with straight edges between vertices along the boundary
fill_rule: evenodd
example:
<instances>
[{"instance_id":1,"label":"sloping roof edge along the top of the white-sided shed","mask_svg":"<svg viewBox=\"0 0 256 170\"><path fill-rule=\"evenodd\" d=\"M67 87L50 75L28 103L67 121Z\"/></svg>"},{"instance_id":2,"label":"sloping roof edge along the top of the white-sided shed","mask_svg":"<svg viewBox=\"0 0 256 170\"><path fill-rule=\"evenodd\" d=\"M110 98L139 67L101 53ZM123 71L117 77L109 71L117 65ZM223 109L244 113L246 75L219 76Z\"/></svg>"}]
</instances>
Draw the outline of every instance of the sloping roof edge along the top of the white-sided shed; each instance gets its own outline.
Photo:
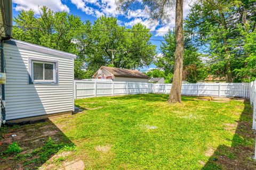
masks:
<instances>
[{"instance_id":1,"label":"sloping roof edge along the top of the white-sided shed","mask_svg":"<svg viewBox=\"0 0 256 170\"><path fill-rule=\"evenodd\" d=\"M51 54L51 55L60 56L60 57L69 57L69 58L74 58L74 59L76 58L75 54L62 52L61 50L47 48L47 47L39 46L36 44L27 43L27 42L21 41L21 40L11 39L9 41L4 41L4 42L6 44L14 45L14 46L17 46L20 48L35 50L36 52L42 52L42 53Z\"/></svg>"}]
</instances>

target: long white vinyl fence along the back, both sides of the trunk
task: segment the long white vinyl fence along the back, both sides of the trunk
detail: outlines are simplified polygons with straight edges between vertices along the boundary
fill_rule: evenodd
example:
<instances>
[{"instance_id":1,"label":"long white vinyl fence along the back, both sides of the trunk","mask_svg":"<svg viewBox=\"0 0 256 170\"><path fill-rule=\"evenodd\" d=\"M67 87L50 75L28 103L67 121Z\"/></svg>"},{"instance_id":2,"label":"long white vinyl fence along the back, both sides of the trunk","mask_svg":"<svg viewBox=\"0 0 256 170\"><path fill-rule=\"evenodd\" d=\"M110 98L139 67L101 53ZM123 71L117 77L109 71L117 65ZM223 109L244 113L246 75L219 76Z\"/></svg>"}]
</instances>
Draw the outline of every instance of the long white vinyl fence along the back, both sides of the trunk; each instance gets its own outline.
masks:
<instances>
[{"instance_id":1,"label":"long white vinyl fence along the back, both sides of the trunk","mask_svg":"<svg viewBox=\"0 0 256 170\"><path fill-rule=\"evenodd\" d=\"M131 94L169 94L172 84L146 82L93 82L75 80L75 98ZM250 98L250 83L182 84L182 95Z\"/></svg>"}]
</instances>

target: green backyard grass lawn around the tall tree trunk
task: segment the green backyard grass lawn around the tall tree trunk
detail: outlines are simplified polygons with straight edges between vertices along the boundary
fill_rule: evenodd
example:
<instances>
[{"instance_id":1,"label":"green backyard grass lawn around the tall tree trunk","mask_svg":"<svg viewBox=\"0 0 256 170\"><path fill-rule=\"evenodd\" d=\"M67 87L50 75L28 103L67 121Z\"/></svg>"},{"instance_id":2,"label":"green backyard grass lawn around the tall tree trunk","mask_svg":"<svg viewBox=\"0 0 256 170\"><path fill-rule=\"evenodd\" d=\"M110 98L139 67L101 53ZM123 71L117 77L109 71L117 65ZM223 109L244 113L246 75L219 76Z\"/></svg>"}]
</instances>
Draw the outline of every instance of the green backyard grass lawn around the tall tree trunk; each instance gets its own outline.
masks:
<instances>
[{"instance_id":1,"label":"green backyard grass lawn around the tall tree trunk","mask_svg":"<svg viewBox=\"0 0 256 170\"><path fill-rule=\"evenodd\" d=\"M145 94L77 99L82 113L52 120L85 169L255 169L247 101ZM58 142L58 141L56 141Z\"/></svg>"}]
</instances>

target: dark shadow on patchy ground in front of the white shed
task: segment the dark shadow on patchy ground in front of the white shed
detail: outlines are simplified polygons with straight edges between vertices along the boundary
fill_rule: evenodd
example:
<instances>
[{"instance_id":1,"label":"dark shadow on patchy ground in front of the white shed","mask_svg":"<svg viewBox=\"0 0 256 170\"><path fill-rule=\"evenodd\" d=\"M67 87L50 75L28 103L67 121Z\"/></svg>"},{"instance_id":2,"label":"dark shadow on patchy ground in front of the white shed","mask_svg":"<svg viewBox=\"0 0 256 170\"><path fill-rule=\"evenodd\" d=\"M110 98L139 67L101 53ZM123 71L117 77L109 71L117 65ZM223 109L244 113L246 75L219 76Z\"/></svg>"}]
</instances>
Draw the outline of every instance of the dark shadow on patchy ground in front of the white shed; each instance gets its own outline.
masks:
<instances>
[{"instance_id":1,"label":"dark shadow on patchy ground in front of the white shed","mask_svg":"<svg viewBox=\"0 0 256 170\"><path fill-rule=\"evenodd\" d=\"M8 150L15 142L21 148L16 153ZM0 129L0 169L37 169L43 164L54 169L54 164L61 166L74 149L74 143L50 120Z\"/></svg>"}]
</instances>

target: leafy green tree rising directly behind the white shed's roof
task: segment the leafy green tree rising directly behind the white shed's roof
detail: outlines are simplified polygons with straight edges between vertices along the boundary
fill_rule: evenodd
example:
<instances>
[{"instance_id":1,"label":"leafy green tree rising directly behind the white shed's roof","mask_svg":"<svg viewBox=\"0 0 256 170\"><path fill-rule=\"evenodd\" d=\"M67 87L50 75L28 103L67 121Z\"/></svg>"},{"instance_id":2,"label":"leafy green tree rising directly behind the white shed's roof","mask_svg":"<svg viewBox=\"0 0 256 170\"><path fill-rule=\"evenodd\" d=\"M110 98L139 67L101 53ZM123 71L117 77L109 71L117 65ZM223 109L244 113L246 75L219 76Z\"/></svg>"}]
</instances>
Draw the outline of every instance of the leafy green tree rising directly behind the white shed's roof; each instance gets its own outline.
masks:
<instances>
[{"instance_id":1,"label":"leafy green tree rising directly behind the white shed's roof","mask_svg":"<svg viewBox=\"0 0 256 170\"><path fill-rule=\"evenodd\" d=\"M42 7L37 17L33 10L20 11L14 18L13 38L29 43L59 49L78 55L75 61L75 78L84 78L82 49L78 50L75 39L82 34L84 24L78 16L67 12L53 12Z\"/></svg>"}]
</instances>

